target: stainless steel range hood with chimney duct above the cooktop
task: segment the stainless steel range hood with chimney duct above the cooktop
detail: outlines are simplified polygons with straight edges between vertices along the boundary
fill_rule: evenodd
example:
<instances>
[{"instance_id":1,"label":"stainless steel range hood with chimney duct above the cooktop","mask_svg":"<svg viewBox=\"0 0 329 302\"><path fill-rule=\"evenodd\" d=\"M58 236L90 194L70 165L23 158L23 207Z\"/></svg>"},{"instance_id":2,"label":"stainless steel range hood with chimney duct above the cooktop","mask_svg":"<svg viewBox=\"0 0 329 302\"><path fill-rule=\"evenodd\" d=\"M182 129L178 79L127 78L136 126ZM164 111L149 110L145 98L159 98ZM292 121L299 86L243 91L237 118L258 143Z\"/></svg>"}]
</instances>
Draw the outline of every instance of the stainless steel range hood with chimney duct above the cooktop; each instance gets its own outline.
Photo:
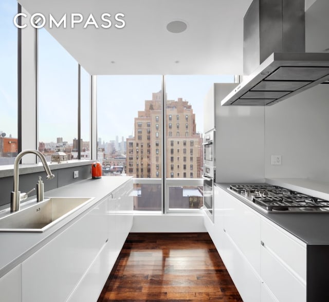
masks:
<instances>
[{"instance_id":1,"label":"stainless steel range hood with chimney duct above the cooktop","mask_svg":"<svg viewBox=\"0 0 329 302\"><path fill-rule=\"evenodd\" d=\"M221 104L268 106L329 80L329 53L305 52L304 0L254 0L244 17L243 82Z\"/></svg>"}]
</instances>

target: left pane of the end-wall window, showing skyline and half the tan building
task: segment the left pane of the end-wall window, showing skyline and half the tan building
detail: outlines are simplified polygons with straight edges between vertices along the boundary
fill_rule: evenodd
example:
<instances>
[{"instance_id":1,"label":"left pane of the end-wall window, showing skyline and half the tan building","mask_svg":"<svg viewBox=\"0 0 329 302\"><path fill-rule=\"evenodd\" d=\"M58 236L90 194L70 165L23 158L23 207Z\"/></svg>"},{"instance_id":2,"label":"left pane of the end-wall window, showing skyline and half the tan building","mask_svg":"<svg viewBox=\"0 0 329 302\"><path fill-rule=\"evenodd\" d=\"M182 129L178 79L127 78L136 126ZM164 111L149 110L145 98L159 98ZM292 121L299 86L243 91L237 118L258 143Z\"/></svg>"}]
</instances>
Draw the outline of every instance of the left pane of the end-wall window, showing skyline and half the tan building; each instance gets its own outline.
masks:
<instances>
[{"instance_id":1,"label":"left pane of the end-wall window, showing skyline and half the tan building","mask_svg":"<svg viewBox=\"0 0 329 302\"><path fill-rule=\"evenodd\" d=\"M97 123L103 175L133 176L134 209L162 211L162 76L98 76Z\"/></svg>"}]
</instances>

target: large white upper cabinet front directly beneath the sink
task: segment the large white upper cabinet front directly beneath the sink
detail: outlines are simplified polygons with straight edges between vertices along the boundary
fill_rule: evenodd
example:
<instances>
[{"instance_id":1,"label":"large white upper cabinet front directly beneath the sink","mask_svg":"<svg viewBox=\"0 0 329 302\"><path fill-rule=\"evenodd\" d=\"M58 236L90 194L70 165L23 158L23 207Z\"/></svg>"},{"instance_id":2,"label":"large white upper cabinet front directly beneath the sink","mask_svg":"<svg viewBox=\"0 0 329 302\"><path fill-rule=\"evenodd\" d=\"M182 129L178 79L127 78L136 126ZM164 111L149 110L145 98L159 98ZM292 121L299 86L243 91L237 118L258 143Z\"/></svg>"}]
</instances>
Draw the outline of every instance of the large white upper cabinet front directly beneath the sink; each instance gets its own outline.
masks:
<instances>
[{"instance_id":1,"label":"large white upper cabinet front directly beneath the sink","mask_svg":"<svg viewBox=\"0 0 329 302\"><path fill-rule=\"evenodd\" d=\"M65 301L107 241L107 199L22 263L23 302Z\"/></svg>"}]
</instances>

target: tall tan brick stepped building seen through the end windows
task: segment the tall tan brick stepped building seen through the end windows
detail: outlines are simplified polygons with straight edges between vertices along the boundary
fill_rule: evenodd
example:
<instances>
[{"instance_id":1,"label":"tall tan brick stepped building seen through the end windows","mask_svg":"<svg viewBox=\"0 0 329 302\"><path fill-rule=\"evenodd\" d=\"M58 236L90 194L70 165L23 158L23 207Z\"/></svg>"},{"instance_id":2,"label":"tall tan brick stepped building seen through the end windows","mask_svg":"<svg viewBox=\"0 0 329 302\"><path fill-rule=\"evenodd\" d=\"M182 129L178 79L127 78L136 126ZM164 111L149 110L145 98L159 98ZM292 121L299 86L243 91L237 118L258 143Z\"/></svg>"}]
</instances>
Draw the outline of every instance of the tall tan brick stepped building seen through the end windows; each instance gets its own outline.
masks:
<instances>
[{"instance_id":1,"label":"tall tan brick stepped building seen through the end windows","mask_svg":"<svg viewBox=\"0 0 329 302\"><path fill-rule=\"evenodd\" d=\"M135 118L135 135L126 140L126 174L136 178L161 178L162 92L145 100L145 108ZM166 154L168 178L200 178L202 136L196 133L192 106L178 98L167 101Z\"/></svg>"}]
</instances>

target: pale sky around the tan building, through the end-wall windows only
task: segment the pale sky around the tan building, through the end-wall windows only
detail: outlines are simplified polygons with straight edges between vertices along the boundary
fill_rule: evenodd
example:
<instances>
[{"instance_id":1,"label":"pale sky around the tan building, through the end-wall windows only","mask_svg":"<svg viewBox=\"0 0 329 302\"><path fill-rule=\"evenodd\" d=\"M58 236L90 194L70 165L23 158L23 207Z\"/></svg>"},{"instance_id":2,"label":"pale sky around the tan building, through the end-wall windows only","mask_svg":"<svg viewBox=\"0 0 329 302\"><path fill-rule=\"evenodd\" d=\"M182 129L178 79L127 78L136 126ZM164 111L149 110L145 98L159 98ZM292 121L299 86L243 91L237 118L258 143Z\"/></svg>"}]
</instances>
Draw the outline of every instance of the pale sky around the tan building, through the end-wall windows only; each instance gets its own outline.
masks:
<instances>
[{"instance_id":1,"label":"pale sky around the tan building, through the end-wall windows only","mask_svg":"<svg viewBox=\"0 0 329 302\"><path fill-rule=\"evenodd\" d=\"M97 77L98 137L115 140L133 135L134 118L144 101L161 90L161 75L100 75ZM168 100L188 101L196 114L197 131L203 132L203 100L213 83L232 82L224 75L166 75Z\"/></svg>"}]
</instances>

